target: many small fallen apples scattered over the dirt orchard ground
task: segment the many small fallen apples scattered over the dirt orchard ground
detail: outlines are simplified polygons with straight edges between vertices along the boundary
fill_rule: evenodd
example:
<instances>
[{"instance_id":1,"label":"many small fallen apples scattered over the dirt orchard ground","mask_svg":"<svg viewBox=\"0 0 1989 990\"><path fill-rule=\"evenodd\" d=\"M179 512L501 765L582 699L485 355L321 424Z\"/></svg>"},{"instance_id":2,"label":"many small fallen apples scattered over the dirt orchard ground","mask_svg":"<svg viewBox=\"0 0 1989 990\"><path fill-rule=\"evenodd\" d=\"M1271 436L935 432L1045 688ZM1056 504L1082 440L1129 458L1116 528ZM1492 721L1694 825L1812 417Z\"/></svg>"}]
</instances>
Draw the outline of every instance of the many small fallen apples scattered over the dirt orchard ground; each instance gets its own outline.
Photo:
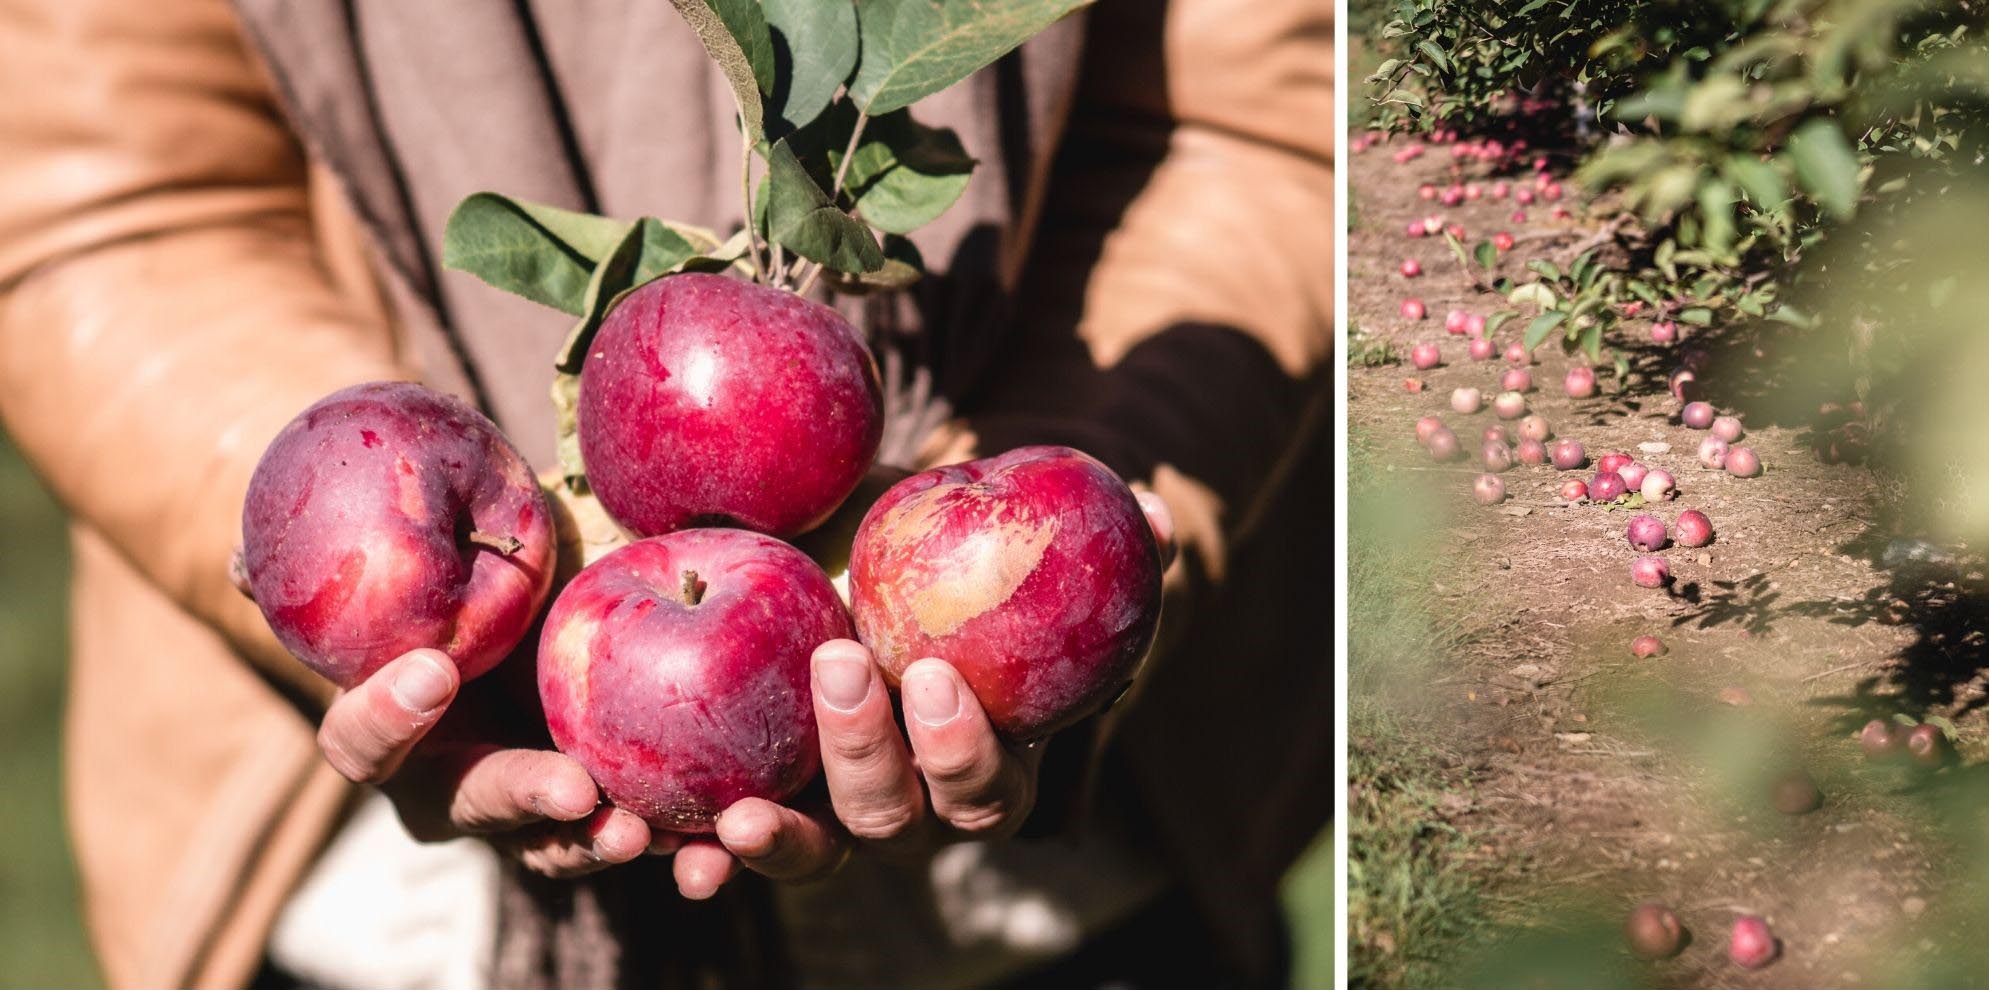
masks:
<instances>
[{"instance_id":1,"label":"many small fallen apples scattered over the dirt orchard ground","mask_svg":"<svg viewBox=\"0 0 1989 990\"><path fill-rule=\"evenodd\" d=\"M1355 141L1355 151L1364 151L1376 143L1386 141L1386 135L1368 133ZM1524 143L1520 147L1500 145L1498 141L1466 141L1454 131L1436 131L1430 135L1434 145L1450 145L1454 161L1476 161L1488 165L1494 173L1516 171L1524 167ZM1408 163L1424 153L1424 143L1414 141L1402 149L1394 151L1394 161ZM1454 173L1460 171L1458 165L1452 167ZM1563 195L1561 185L1551 179L1549 163L1545 157L1536 157L1532 163L1534 181L1532 187L1510 183L1506 179L1492 181L1490 187L1458 179L1448 187L1422 185L1418 197L1422 201L1438 201L1444 207L1458 207L1468 201L1478 201L1486 195L1492 199L1514 197L1520 205L1534 203L1536 195L1557 201ZM1567 217L1565 209L1555 209L1555 217ZM1514 213L1514 223L1526 223L1524 213ZM1464 239L1464 227L1444 219L1442 215L1430 215L1418 221L1410 221L1406 235L1410 239L1452 235ZM1492 239L1500 252L1512 250L1516 239L1500 231ZM1400 268L1404 280L1420 278L1424 268L1418 258L1404 258ZM1625 318L1643 316L1643 302L1623 304ZM1400 304L1400 316L1410 322L1426 320L1428 306L1420 298L1404 298ZM1677 322L1663 318L1663 314L1653 314L1649 332L1653 344L1679 344L1681 330ZM1537 413L1528 410L1526 396L1534 392L1532 364L1534 356L1524 346L1524 342L1512 342L1504 348L1486 332L1488 320L1480 314L1466 310L1452 310L1444 318L1444 330L1450 336L1466 340L1466 352L1472 362L1490 362L1504 356L1510 366L1498 378L1498 392L1490 400L1490 408L1500 421L1484 425L1480 431L1478 463L1484 473L1472 481L1472 495L1484 505L1500 505L1506 501L1506 483L1500 475L1524 467L1553 467L1559 471L1577 471L1589 465L1589 451L1571 437L1555 439L1553 427ZM1679 354L1679 366L1673 370L1667 382L1667 390L1681 404L1677 412L1677 421L1687 429L1707 431L1697 449L1697 461L1703 469L1724 471L1726 475L1748 479L1758 477L1762 471L1760 457L1754 449L1740 445L1740 437L1746 433L1742 421L1734 415L1720 415L1709 402L1699 400L1699 374L1705 372L1707 352L1699 348L1683 348ZM1418 372L1440 368L1444 364L1444 348L1438 340L1424 340L1410 348L1408 362ZM1410 392L1422 392L1422 380L1410 378L1404 382ZM1573 400L1587 400L1597 394L1595 370L1577 364L1567 370L1563 390ZM1486 392L1480 388L1456 388L1450 394L1450 410L1458 415L1478 415L1486 406ZM1514 423L1516 421L1516 423ZM1506 423L1514 423L1518 435L1508 429ZM1444 423L1438 415L1424 415L1416 421L1416 441L1428 449L1430 457L1436 461L1456 461L1464 457L1464 441L1458 433ZM1551 443L1549 443L1551 441ZM1649 443L1647 453L1669 453L1669 443ZM1559 487L1559 505L1613 505L1621 507L1625 503L1635 505L1659 505L1673 501L1679 495L1679 477L1671 471L1655 465L1637 461L1629 453L1609 451L1601 453L1593 461L1595 475L1587 481L1573 477ZM1707 547L1715 539L1713 521L1707 513L1699 509L1681 511L1673 523L1667 527L1663 519L1651 513L1635 515L1625 527L1625 539L1637 557L1629 563L1631 582L1645 588L1669 588L1671 586L1671 567L1659 551L1677 543L1679 547ZM1665 642L1657 636L1645 634L1631 642L1631 654L1641 658L1665 654ZM1898 720L1872 720L1860 732L1860 745L1868 759L1905 763L1921 769L1935 769L1951 759L1951 747L1947 736L1931 724L1905 726ZM1824 803L1822 791L1816 781L1802 769L1792 769L1774 775L1768 785L1768 803L1784 815L1804 815ZM1687 928L1679 920L1677 912L1661 903L1637 905L1623 924L1625 940L1633 954L1641 958L1671 958L1685 950ZM1728 958L1744 968L1760 968L1774 962L1782 944L1768 928L1768 922L1754 914L1742 914L1732 922L1732 932L1728 938Z\"/></svg>"}]
</instances>

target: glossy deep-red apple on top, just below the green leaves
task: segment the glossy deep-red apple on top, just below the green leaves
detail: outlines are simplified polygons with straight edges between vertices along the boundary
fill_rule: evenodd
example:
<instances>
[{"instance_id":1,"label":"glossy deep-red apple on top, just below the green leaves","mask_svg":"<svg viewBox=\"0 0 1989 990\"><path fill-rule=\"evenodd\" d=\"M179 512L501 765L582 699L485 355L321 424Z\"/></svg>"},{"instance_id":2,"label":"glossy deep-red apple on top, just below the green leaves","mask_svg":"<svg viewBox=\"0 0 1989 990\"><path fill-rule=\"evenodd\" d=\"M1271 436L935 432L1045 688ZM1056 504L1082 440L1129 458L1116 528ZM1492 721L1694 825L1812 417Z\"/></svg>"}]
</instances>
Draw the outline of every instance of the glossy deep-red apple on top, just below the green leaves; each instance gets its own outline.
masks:
<instances>
[{"instance_id":1,"label":"glossy deep-red apple on top, just below the green leaves","mask_svg":"<svg viewBox=\"0 0 1989 990\"><path fill-rule=\"evenodd\" d=\"M601 322L581 366L579 435L601 505L640 537L712 523L792 537L863 479L883 396L835 310L672 274Z\"/></svg>"}]
</instances>

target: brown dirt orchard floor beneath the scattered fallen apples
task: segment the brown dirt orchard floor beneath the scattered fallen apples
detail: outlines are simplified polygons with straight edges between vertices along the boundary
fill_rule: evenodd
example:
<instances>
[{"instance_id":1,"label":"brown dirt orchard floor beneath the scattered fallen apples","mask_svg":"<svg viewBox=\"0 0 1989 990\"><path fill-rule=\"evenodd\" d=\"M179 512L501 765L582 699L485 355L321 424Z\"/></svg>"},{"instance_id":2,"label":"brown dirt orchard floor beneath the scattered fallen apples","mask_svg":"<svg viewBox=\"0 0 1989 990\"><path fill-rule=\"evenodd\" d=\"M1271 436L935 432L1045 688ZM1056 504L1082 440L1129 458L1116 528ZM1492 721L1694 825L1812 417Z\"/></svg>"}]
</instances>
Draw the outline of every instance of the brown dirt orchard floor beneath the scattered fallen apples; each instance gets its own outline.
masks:
<instances>
[{"instance_id":1,"label":"brown dirt orchard floor beneath the scattered fallen apples","mask_svg":"<svg viewBox=\"0 0 1989 990\"><path fill-rule=\"evenodd\" d=\"M1452 926L1464 934L1420 970L1384 964L1410 950L1388 932L1355 954L1382 960L1370 972L1406 972L1402 982L1434 986L1478 978L1563 986L1553 970L1567 966L1565 986L1818 990L1907 986L1896 980L1896 960L1935 942L1983 952L1973 944L1979 934L1967 932L1989 889L1963 883L1979 865L1953 869L1965 853L1941 839L1953 833L1937 823L1943 793L1981 787L1967 763L1989 749L1983 720L1963 718L1985 704L1979 674L1989 660L1971 632L1981 612L1969 608L1979 598L1965 594L1983 575L1959 565L1882 567L1892 533L1878 519L1890 493L1872 471L1820 463L1808 423L1766 412L1762 396L1790 374L1780 340L1766 330L1701 330L1655 346L1649 320L1625 320L1609 344L1629 358L1631 376L1615 382L1605 372L1601 394L1579 402L1561 388L1573 360L1551 342L1536 354L1537 388L1528 400L1557 435L1579 439L1591 459L1627 451L1677 475L1677 501L1637 511L1667 525L1685 507L1713 517L1711 547L1663 551L1675 577L1669 592L1629 580L1635 553L1623 531L1637 511L1557 501L1563 479L1587 479L1593 467L1518 465L1504 475L1510 501L1474 503L1472 479L1482 469L1470 457L1432 463L1412 427L1434 413L1466 453L1478 449L1480 429L1498 421L1490 398L1508 366L1472 362L1466 338L1448 336L1442 324L1452 308L1486 314L1502 304L1474 290L1440 237L1412 241L1402 231L1430 213L1462 223L1466 243L1510 229L1520 247L1494 276L1526 280L1526 258L1565 266L1599 223L1581 219L1573 195L1575 219L1567 221L1549 221L1551 205L1536 203L1526 207L1532 223L1512 225L1514 203L1490 195L1442 209L1416 189L1448 183L1450 155L1434 147L1396 165L1394 147L1347 157L1351 350L1386 344L1406 358L1414 342L1430 340L1440 342L1444 364L1416 372L1406 360L1356 360L1349 429L1356 461L1368 457L1374 473L1428 493L1440 533L1416 553L1440 561L1418 571L1428 575L1422 606L1450 632L1442 656L1404 672L1412 684L1390 688L1386 670L1368 670L1368 680L1356 674L1355 690L1376 698L1355 698L1353 708L1400 710L1414 726L1414 747L1440 753L1446 793L1430 803L1434 825L1462 837L1450 869L1470 877L1470 910L1482 916ZM1420 278L1398 274L1406 256L1422 262ZM1422 298L1430 316L1414 324L1398 316L1406 296ZM1502 350L1524 324L1506 324ZM1762 477L1699 467L1705 433L1677 423L1679 404L1665 388L1679 346L1711 352L1707 398L1746 419L1742 443L1760 453ZM1410 378L1422 380L1422 392L1404 386ZM1488 410L1454 413L1448 400L1458 386L1480 388ZM1645 443L1671 449L1643 453ZM1360 527L1390 525L1372 499L1362 505L1353 501L1355 543ZM1633 658L1629 644L1641 634L1661 636L1669 654ZM1351 658L1356 670L1362 660ZM1963 767L1929 777L1866 765L1854 734L1886 712L1953 716ZM1360 734L1356 720L1355 749L1366 745L1368 759L1426 759L1388 751L1404 747L1392 742L1402 734ZM1792 765L1820 783L1818 811L1784 817L1768 807L1766 781ZM1356 847L1378 827L1362 799L1356 781ZM1621 952L1617 924L1645 899L1673 905L1689 928L1693 940L1677 960L1645 964ZM1782 958L1764 970L1726 960L1728 928L1742 912L1766 916L1784 942Z\"/></svg>"}]
</instances>

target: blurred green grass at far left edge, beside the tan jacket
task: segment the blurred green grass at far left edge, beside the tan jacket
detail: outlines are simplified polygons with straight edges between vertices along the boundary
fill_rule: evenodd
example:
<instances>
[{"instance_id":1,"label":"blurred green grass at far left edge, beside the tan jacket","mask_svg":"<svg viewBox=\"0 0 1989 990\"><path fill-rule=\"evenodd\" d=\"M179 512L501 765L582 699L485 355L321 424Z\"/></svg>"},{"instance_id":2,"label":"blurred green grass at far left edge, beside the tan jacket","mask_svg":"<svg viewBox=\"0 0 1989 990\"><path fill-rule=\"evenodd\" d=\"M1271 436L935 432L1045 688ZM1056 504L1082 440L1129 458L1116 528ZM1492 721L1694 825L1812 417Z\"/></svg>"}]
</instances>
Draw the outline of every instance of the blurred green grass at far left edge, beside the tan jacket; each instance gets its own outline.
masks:
<instances>
[{"instance_id":1,"label":"blurred green grass at far left edge, beside the tan jacket","mask_svg":"<svg viewBox=\"0 0 1989 990\"><path fill-rule=\"evenodd\" d=\"M95 986L62 815L70 547L0 433L0 988Z\"/></svg>"}]
</instances>

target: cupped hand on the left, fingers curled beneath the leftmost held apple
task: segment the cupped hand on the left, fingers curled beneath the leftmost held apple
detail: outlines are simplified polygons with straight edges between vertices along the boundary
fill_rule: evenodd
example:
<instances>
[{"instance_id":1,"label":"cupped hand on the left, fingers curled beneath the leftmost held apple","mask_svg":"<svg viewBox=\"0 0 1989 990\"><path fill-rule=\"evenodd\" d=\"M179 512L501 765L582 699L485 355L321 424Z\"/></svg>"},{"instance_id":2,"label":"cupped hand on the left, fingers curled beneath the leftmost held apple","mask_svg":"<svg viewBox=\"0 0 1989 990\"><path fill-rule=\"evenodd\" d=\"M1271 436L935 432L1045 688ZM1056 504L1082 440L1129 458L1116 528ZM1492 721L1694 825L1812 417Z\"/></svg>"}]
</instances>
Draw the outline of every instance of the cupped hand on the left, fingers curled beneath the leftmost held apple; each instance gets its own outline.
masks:
<instances>
[{"instance_id":1,"label":"cupped hand on the left, fingers curled beneath the leftmost held apple","mask_svg":"<svg viewBox=\"0 0 1989 990\"><path fill-rule=\"evenodd\" d=\"M346 779L378 785L420 841L481 835L545 877L579 877L650 851L648 825L601 805L573 757L438 732L459 690L446 654L408 652L332 702L318 749ZM654 851L676 843L660 835Z\"/></svg>"}]
</instances>

